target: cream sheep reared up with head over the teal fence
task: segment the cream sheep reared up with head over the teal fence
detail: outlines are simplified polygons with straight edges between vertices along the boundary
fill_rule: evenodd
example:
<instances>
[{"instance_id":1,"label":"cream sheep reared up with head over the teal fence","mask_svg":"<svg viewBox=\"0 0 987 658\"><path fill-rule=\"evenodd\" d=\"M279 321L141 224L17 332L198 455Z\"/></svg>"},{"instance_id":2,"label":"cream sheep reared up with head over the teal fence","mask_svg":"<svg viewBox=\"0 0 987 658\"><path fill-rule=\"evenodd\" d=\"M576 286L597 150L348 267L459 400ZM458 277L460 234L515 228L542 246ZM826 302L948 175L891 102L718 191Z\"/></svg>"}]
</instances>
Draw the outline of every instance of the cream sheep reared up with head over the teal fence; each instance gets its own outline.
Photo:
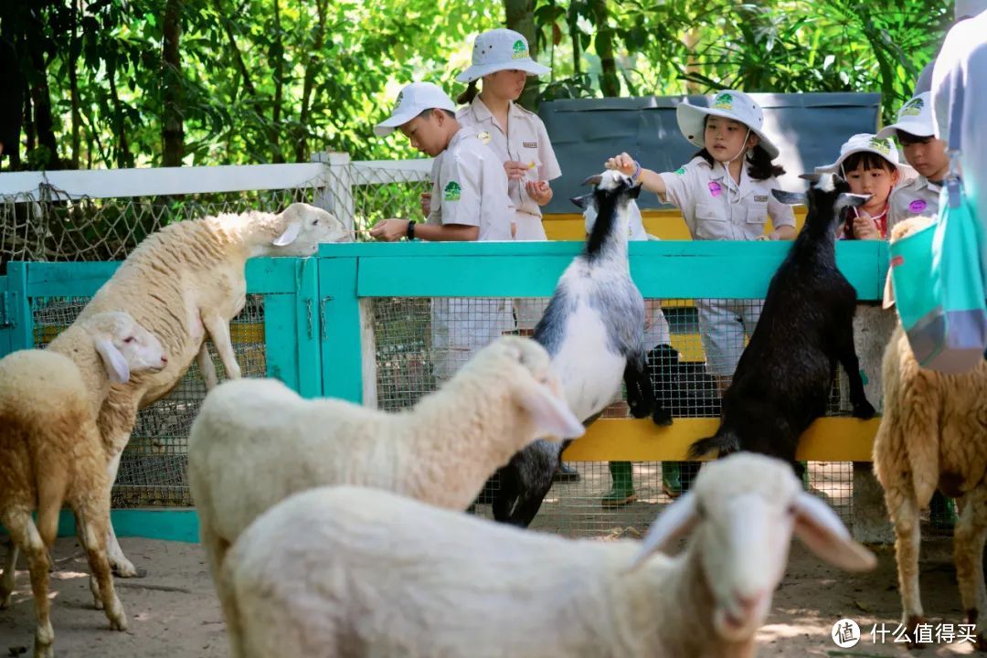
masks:
<instances>
[{"instance_id":1,"label":"cream sheep reared up with head over the teal fence","mask_svg":"<svg viewBox=\"0 0 987 658\"><path fill-rule=\"evenodd\" d=\"M208 332L227 377L240 377L229 322L247 300L247 259L254 256L312 256L319 243L348 240L332 214L293 203L280 214L221 214L171 224L137 246L86 305L80 320L105 311L125 311L161 338L170 360L162 372L145 373L116 387L100 414L100 430L114 449L111 481L130 438L138 409L178 385L197 355L212 388L216 375L205 344ZM110 528L110 562L120 576L137 575Z\"/></svg>"}]
</instances>

